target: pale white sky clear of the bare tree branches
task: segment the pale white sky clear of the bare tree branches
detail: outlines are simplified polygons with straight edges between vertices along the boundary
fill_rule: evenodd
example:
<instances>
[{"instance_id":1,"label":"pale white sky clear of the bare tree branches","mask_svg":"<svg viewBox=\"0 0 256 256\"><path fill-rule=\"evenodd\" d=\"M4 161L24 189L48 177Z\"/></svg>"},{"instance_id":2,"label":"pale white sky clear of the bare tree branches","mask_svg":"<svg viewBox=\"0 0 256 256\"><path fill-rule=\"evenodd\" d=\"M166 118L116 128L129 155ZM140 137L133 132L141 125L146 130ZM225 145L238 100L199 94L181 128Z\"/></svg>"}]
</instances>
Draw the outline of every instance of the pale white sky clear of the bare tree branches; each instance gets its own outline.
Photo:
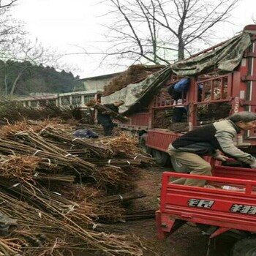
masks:
<instances>
[{"instance_id":1,"label":"pale white sky clear of the bare tree branches","mask_svg":"<svg viewBox=\"0 0 256 256\"><path fill-rule=\"evenodd\" d=\"M92 49L102 39L106 22L105 10L95 4L96 0L18 0L12 15L26 23L31 38L37 37L46 47L59 53L81 52L81 48ZM256 19L256 0L240 0L230 23L217 28L219 42L233 37L244 26ZM216 42L218 43L218 42ZM88 78L123 71L124 68L99 67L97 56L68 55L63 61L73 67L74 75Z\"/></svg>"}]
</instances>

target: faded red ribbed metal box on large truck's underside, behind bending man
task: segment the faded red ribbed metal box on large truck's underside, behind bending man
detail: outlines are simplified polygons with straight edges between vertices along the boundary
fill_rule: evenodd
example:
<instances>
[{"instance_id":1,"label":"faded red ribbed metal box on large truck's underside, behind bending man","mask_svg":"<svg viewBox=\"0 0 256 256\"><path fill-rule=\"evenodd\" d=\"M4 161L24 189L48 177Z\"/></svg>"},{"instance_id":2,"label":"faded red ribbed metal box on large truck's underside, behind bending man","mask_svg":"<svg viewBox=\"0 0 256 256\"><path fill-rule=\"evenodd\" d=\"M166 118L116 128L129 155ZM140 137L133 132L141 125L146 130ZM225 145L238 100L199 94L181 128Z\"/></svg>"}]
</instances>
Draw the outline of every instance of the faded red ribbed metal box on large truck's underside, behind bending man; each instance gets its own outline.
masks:
<instances>
[{"instance_id":1,"label":"faded red ribbed metal box on large truck's underside, behind bending man","mask_svg":"<svg viewBox=\"0 0 256 256\"><path fill-rule=\"evenodd\" d=\"M151 129L148 131L146 146L166 152L170 143L180 136L180 133L160 129Z\"/></svg>"}]
</instances>

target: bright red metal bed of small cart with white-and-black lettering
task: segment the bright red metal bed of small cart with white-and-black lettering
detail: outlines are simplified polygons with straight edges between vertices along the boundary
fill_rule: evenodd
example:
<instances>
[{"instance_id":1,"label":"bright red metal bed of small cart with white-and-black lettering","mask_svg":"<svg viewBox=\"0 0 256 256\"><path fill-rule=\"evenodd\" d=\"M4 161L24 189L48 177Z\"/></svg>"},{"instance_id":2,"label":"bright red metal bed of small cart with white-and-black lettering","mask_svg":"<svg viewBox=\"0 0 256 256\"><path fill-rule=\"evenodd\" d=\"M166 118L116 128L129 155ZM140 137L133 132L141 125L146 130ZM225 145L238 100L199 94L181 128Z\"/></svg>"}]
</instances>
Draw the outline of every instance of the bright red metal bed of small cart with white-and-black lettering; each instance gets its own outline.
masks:
<instances>
[{"instance_id":1,"label":"bright red metal bed of small cart with white-and-black lettering","mask_svg":"<svg viewBox=\"0 0 256 256\"><path fill-rule=\"evenodd\" d=\"M185 222L219 227L211 237L230 229L256 233L256 170L214 166L214 176L163 173L159 211L156 213L159 238L173 233ZM173 178L207 180L216 188L171 184ZM223 185L244 191L220 189Z\"/></svg>"}]
</instances>

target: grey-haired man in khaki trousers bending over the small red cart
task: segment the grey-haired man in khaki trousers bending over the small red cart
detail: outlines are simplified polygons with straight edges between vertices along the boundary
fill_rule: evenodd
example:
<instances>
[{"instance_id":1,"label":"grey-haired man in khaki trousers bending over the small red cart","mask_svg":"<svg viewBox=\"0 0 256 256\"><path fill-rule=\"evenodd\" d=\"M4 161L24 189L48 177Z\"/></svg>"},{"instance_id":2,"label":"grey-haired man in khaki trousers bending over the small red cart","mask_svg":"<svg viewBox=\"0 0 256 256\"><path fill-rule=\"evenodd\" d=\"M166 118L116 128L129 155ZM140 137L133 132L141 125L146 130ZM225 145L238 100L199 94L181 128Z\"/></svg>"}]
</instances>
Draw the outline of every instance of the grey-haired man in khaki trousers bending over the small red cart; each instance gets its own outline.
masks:
<instances>
[{"instance_id":1,"label":"grey-haired man in khaki trousers bending over the small red cart","mask_svg":"<svg viewBox=\"0 0 256 256\"><path fill-rule=\"evenodd\" d=\"M170 157L187 167L190 174L212 176L211 165L202 157L211 156L219 161L228 157L249 164L256 169L256 159L237 148L233 138L242 131L255 128L256 114L238 112L224 120L198 127L173 141L168 147ZM222 151L223 154L219 154ZM178 178L173 184L204 187L206 181L193 178Z\"/></svg>"}]
</instances>

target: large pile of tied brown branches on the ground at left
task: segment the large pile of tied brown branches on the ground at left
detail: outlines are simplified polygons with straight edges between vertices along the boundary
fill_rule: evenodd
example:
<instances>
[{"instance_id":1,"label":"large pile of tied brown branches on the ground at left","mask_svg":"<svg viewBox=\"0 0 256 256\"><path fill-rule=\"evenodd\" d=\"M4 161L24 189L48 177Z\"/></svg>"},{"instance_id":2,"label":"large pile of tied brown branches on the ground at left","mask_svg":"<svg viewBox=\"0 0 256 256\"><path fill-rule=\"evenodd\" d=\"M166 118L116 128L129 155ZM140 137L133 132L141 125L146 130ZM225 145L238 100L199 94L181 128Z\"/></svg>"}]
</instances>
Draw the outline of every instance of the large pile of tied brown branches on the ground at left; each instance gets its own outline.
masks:
<instances>
[{"instance_id":1,"label":"large pile of tied brown branches on the ground at left","mask_svg":"<svg viewBox=\"0 0 256 256\"><path fill-rule=\"evenodd\" d=\"M2 127L1 213L18 225L0 238L0 255L142 255L138 238L110 224L130 218L124 203L145 196L135 189L136 167L151 164L124 135L74 138L50 121Z\"/></svg>"}]
</instances>

